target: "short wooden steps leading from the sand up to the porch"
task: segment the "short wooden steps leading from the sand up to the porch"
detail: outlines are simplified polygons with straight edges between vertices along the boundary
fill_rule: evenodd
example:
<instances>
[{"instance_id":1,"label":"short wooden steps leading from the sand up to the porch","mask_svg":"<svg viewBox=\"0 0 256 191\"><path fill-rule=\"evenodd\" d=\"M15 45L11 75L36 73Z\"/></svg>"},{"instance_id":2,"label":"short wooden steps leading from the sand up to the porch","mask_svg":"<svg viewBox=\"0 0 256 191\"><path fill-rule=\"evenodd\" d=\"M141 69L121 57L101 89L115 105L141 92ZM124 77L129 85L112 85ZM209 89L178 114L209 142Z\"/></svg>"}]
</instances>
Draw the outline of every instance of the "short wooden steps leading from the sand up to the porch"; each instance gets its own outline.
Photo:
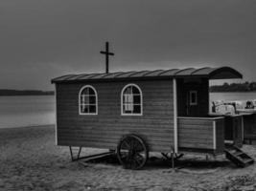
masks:
<instances>
[{"instance_id":1,"label":"short wooden steps leading from the sand up to the porch","mask_svg":"<svg viewBox=\"0 0 256 191\"><path fill-rule=\"evenodd\" d=\"M254 159L245 154L240 148L234 145L228 145L226 147L225 157L239 167L245 167L254 162Z\"/></svg>"}]
</instances>

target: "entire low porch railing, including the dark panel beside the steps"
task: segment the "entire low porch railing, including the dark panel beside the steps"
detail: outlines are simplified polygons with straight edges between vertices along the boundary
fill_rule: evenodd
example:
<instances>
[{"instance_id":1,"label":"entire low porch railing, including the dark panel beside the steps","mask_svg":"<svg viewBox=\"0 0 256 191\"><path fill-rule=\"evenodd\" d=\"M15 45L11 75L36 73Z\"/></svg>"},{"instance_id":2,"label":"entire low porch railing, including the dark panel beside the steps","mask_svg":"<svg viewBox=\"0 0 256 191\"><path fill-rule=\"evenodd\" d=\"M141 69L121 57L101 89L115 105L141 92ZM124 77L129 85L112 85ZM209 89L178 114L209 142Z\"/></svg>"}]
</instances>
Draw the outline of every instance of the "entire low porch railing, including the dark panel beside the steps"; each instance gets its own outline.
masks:
<instances>
[{"instance_id":1,"label":"entire low porch railing, including the dark panel beside the steps","mask_svg":"<svg viewBox=\"0 0 256 191\"><path fill-rule=\"evenodd\" d=\"M225 142L238 147L243 142L241 116L177 117L178 150L223 154Z\"/></svg>"}]
</instances>

